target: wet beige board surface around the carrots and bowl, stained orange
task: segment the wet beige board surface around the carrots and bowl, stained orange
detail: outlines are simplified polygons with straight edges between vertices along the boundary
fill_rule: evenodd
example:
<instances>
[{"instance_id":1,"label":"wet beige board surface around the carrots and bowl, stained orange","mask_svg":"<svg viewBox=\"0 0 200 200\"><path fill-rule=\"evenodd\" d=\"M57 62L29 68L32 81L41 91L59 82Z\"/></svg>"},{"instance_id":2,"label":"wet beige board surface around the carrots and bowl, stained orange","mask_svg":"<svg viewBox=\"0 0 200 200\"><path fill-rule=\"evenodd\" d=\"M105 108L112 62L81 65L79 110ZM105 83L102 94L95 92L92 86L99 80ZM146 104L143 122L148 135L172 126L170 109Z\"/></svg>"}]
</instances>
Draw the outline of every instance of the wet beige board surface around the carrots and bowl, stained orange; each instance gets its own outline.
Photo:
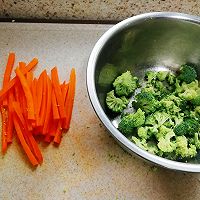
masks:
<instances>
[{"instance_id":1,"label":"wet beige board surface around the carrots and bowl, stained orange","mask_svg":"<svg viewBox=\"0 0 200 200\"><path fill-rule=\"evenodd\" d=\"M101 124L89 102L86 67L98 38L111 25L0 25L0 80L7 55L17 61L38 57L38 75L58 66L61 80L77 70L71 128L59 148L40 144L44 163L32 168L19 141L0 157L0 199L196 200L200 175L154 167L126 153Z\"/></svg>"}]
</instances>

